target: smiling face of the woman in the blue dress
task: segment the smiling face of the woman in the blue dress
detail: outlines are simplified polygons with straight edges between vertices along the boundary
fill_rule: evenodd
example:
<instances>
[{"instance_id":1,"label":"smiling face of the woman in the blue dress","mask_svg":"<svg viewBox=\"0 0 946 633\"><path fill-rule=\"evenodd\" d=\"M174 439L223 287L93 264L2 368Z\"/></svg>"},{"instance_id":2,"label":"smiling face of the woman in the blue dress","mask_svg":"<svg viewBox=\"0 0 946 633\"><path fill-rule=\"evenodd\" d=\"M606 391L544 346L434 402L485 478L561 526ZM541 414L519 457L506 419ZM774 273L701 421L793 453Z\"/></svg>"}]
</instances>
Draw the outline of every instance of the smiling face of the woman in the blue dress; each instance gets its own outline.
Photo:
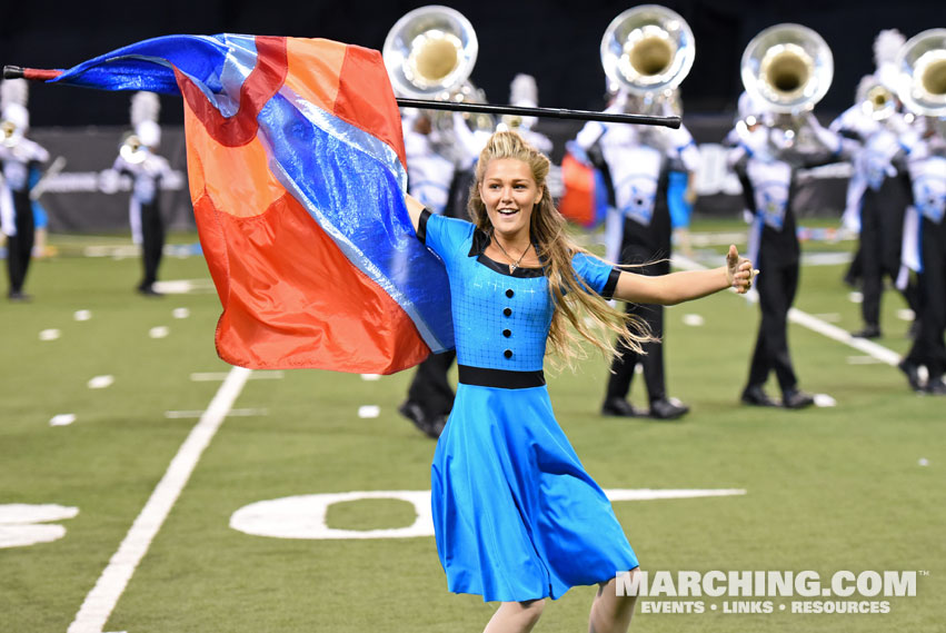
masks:
<instances>
[{"instance_id":1,"label":"smiling face of the woman in the blue dress","mask_svg":"<svg viewBox=\"0 0 946 633\"><path fill-rule=\"evenodd\" d=\"M496 233L507 239L525 233L528 238L532 208L542 198L528 162L494 158L486 166L479 195Z\"/></svg>"}]
</instances>

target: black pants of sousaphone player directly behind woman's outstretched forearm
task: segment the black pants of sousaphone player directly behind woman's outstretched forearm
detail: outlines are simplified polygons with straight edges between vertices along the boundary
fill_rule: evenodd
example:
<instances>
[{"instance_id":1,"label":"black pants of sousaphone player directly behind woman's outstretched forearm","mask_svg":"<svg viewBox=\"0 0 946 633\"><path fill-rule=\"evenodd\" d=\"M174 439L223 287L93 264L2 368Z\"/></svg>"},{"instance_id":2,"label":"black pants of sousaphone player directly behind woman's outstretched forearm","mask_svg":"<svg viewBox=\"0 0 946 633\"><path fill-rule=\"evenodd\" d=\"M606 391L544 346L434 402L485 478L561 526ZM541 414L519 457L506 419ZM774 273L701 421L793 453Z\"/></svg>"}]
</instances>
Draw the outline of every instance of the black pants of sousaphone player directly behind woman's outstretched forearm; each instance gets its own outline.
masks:
<instances>
[{"instance_id":1,"label":"black pants of sousaphone player directly behind woman's outstretched forearm","mask_svg":"<svg viewBox=\"0 0 946 633\"><path fill-rule=\"evenodd\" d=\"M645 257L653 258L653 255ZM623 260L633 261L634 257L628 258L623 256ZM666 275L669 271L669 261L647 264L634 269L634 273L651 276ZM647 386L648 400L651 403L661 400L667 397L664 377L664 306L627 304L626 309L627 314L643 319L650 328L650 334L661 340L645 343L643 346L644 354L638 354L618 343L617 352L620 356L615 356L614 360L611 360L611 374L608 378L608 390L605 397L607 399L626 398L630 392L634 372L638 365L641 365L644 367L644 383Z\"/></svg>"}]
</instances>

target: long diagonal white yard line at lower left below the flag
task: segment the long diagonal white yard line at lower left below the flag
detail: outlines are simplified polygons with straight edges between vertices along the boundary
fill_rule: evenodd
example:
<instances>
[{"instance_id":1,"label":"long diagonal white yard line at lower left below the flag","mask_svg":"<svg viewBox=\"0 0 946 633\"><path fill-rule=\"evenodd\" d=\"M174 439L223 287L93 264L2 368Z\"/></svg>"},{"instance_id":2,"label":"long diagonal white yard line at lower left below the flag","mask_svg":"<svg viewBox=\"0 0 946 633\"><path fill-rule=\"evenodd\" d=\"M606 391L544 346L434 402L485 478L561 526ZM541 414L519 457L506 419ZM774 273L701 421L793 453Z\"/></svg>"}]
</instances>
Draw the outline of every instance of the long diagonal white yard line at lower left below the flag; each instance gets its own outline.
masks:
<instances>
[{"instance_id":1,"label":"long diagonal white yard line at lower left below the flag","mask_svg":"<svg viewBox=\"0 0 946 633\"><path fill-rule=\"evenodd\" d=\"M217 429L223 424L227 413L233 406L251 369L233 367L229 376L217 389L217 395L200 422L191 429L181 445L178 454L168 466L165 476L158 483L155 492L141 513L135 520L131 530L126 534L118 551L112 555L108 566L99 576L96 586L86 596L82 606L76 614L76 620L69 625L68 633L101 633L118 599L128 586L128 581L136 567L145 557L151 541L158 534L165 520L171 512L185 485L187 485L203 449L210 444Z\"/></svg>"}]
</instances>

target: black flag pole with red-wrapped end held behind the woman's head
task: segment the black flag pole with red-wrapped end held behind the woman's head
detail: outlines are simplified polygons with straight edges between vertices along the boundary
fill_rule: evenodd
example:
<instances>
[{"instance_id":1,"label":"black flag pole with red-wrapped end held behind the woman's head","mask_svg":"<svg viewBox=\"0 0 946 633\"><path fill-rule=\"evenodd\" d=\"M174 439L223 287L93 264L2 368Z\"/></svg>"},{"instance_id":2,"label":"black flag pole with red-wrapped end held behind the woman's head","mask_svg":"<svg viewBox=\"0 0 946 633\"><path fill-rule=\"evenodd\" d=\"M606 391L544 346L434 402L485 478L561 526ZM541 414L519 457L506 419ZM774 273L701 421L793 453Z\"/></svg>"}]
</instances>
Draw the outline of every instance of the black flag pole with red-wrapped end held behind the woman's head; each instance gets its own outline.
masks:
<instances>
[{"instance_id":1,"label":"black flag pole with red-wrapped end held behind the woman's head","mask_svg":"<svg viewBox=\"0 0 946 633\"><path fill-rule=\"evenodd\" d=\"M46 81L56 79L61 70L42 70L4 66L3 79L30 79ZM511 115L515 117L544 117L551 119L576 119L579 121L607 121L613 123L637 123L643 126L665 126L679 128L679 117L655 117L650 115L625 115L617 112L593 112L589 110L566 110L560 108L524 108L516 106L494 106L490 103L465 103L456 101L435 101L429 99L398 99L401 108L419 108L422 110L449 110L459 112L482 112L487 115Z\"/></svg>"}]
</instances>

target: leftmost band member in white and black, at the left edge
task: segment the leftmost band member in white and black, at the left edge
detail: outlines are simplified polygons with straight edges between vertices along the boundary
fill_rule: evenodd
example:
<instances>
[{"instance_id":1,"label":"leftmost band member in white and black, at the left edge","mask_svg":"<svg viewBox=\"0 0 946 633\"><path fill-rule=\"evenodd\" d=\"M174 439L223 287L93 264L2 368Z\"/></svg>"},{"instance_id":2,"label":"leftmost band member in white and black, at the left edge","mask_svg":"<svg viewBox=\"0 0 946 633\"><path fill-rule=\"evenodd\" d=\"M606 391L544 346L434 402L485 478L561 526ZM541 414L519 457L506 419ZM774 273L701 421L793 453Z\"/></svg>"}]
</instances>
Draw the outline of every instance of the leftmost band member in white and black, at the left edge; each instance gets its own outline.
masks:
<instances>
[{"instance_id":1,"label":"leftmost band member in white and black, at the left edge","mask_svg":"<svg viewBox=\"0 0 946 633\"><path fill-rule=\"evenodd\" d=\"M24 79L0 85L0 225L7 236L7 273L11 301L29 300L23 283L30 267L34 220L30 199L30 170L49 160L49 152L26 138L30 126Z\"/></svg>"}]
</instances>

